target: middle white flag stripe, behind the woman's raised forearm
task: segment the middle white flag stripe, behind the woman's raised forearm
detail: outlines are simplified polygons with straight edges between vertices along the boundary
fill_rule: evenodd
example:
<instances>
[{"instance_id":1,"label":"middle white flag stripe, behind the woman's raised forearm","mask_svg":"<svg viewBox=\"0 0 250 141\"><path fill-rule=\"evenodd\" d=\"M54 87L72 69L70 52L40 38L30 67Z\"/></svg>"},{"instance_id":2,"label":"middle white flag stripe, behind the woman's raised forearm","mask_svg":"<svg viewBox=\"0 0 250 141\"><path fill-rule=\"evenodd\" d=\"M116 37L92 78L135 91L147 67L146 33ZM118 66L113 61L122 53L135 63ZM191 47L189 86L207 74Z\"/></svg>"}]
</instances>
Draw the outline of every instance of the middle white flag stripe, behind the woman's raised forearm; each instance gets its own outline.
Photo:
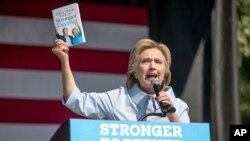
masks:
<instances>
[{"instance_id":1,"label":"middle white flag stripe, behind the woman's raised forearm","mask_svg":"<svg viewBox=\"0 0 250 141\"><path fill-rule=\"evenodd\" d=\"M125 84L125 75L74 72L78 87L87 92L104 92ZM59 71L0 69L0 96L26 99L61 99Z\"/></svg>"}]
</instances>

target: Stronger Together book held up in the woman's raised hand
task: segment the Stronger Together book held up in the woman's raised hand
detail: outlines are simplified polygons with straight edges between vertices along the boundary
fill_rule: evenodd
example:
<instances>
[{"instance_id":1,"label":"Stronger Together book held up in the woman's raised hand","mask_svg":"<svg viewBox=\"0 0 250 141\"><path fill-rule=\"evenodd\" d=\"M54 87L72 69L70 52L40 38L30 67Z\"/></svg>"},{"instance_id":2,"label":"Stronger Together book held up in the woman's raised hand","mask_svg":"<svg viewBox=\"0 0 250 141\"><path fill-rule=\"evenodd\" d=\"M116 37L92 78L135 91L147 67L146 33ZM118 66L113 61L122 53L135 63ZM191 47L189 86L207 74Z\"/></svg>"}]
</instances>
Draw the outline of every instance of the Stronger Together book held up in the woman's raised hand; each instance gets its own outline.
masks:
<instances>
[{"instance_id":1,"label":"Stronger Together book held up in the woman's raised hand","mask_svg":"<svg viewBox=\"0 0 250 141\"><path fill-rule=\"evenodd\" d=\"M78 3L72 3L52 10L56 38L77 46L86 42Z\"/></svg>"}]
</instances>

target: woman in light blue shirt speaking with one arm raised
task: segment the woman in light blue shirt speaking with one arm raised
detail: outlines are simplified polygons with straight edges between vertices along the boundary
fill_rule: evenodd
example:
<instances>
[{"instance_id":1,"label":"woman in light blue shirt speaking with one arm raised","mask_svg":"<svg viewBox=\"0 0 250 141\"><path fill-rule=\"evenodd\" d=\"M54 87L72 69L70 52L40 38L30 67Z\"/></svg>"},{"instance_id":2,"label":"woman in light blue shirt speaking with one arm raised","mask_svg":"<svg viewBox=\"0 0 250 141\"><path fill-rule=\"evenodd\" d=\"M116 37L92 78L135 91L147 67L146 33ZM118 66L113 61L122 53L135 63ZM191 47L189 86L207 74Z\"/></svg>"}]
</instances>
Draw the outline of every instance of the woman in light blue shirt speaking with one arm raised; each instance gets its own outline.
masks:
<instances>
[{"instance_id":1,"label":"woman in light blue shirt speaking with one arm raised","mask_svg":"<svg viewBox=\"0 0 250 141\"><path fill-rule=\"evenodd\" d=\"M137 121L146 113L161 112L159 102L170 104L176 112L165 117L150 116L147 121L190 122L188 106L176 98L169 85L171 55L166 45L151 39L139 40L130 52L127 82L103 93L81 92L69 65L69 48L56 40L52 49L62 65L64 104L72 111L93 119ZM155 96L151 80L157 78L161 91Z\"/></svg>"}]
</instances>

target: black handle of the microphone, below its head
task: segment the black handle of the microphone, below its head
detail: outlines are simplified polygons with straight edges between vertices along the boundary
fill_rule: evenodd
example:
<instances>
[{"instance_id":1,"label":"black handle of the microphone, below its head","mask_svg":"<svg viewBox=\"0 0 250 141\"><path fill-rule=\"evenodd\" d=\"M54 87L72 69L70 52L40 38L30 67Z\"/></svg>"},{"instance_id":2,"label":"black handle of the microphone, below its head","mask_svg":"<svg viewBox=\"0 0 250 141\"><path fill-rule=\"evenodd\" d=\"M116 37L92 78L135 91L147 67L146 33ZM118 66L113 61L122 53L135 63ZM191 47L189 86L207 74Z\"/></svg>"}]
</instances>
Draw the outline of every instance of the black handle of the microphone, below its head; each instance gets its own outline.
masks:
<instances>
[{"instance_id":1,"label":"black handle of the microphone, below its head","mask_svg":"<svg viewBox=\"0 0 250 141\"><path fill-rule=\"evenodd\" d=\"M156 96L158 97L159 96L159 93L160 93L160 85L153 85L153 88L155 90L155 94ZM160 104L160 108L161 108L161 111L164 113L164 114L167 114L167 113L174 113L176 111L175 107L173 107L172 105L170 104L164 104L162 102L159 102Z\"/></svg>"}]
</instances>

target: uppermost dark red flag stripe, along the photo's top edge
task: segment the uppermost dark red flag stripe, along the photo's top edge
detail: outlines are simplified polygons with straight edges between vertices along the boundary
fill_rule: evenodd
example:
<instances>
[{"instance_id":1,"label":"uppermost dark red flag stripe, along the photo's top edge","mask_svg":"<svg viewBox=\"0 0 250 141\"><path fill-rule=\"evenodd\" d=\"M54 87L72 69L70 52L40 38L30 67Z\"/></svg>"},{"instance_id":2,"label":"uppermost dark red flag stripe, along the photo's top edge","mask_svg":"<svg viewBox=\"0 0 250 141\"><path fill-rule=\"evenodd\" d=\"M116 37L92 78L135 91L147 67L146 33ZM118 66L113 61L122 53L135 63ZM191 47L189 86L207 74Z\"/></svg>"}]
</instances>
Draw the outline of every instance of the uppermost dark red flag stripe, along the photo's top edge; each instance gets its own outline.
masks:
<instances>
[{"instance_id":1,"label":"uppermost dark red flag stripe, along the photo's top edge","mask_svg":"<svg viewBox=\"0 0 250 141\"><path fill-rule=\"evenodd\" d=\"M1 2L0 15L52 18L52 9L70 3L73 2L29 1L27 3L18 0L12 0L11 2ZM148 25L146 8L80 2L79 7L83 21L90 20L123 24Z\"/></svg>"}]
</instances>

